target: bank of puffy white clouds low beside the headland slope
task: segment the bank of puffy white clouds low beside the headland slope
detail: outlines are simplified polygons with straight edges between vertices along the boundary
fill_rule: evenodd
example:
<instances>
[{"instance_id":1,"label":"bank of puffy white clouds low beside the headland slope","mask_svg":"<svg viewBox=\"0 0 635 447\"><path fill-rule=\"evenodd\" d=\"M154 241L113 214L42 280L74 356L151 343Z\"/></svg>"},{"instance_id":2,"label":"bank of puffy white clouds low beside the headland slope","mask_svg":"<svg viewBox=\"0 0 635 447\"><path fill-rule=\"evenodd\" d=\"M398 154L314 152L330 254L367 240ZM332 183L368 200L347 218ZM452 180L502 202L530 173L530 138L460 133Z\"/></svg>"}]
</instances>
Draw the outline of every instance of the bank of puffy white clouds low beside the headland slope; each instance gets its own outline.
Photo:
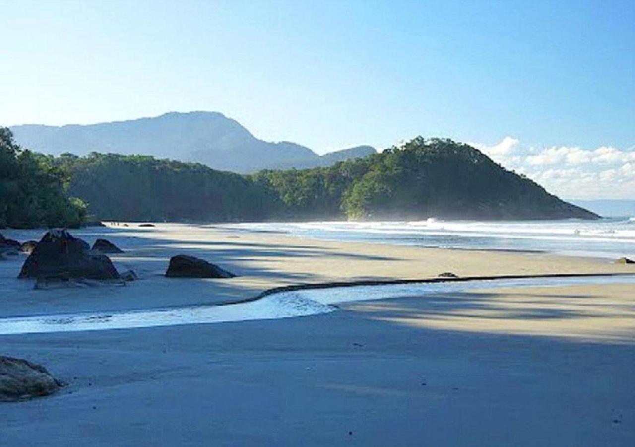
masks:
<instances>
[{"instance_id":1,"label":"bank of puffy white clouds low beside the headland slope","mask_svg":"<svg viewBox=\"0 0 635 447\"><path fill-rule=\"evenodd\" d=\"M515 170L565 198L635 199L635 147L526 148L513 137L498 144L470 143L507 169Z\"/></svg>"}]
</instances>

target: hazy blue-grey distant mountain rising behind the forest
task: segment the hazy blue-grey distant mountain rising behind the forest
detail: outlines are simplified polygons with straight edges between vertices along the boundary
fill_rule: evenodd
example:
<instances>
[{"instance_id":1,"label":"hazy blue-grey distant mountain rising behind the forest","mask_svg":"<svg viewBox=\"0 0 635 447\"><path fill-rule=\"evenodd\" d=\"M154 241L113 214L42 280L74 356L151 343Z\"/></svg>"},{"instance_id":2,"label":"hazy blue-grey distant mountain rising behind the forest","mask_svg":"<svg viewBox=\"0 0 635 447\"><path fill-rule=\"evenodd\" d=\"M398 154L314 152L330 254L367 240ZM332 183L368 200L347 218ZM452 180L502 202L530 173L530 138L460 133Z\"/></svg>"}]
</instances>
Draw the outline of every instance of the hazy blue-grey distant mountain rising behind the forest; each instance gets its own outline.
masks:
<instances>
[{"instance_id":1,"label":"hazy blue-grey distant mountain rising behind the forest","mask_svg":"<svg viewBox=\"0 0 635 447\"><path fill-rule=\"evenodd\" d=\"M257 139L236 120L217 112L171 112L91 125L20 125L11 130L20 146L50 155L151 155L240 173L328 166L376 153L370 146L359 146L319 156L293 142Z\"/></svg>"}]
</instances>

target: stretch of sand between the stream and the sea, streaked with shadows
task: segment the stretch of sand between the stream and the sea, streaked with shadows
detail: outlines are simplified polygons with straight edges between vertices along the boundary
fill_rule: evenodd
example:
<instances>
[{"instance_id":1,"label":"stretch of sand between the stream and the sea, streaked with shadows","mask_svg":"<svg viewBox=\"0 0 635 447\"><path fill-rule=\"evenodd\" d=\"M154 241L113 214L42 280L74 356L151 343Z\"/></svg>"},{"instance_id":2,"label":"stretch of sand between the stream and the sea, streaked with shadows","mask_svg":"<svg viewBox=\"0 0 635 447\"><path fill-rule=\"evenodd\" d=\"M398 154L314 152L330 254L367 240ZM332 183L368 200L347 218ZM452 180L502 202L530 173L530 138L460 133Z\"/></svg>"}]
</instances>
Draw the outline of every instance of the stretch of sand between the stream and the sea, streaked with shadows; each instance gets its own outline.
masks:
<instances>
[{"instance_id":1,"label":"stretch of sand between the stream and the sea, streaked with shadows","mask_svg":"<svg viewBox=\"0 0 635 447\"><path fill-rule=\"evenodd\" d=\"M227 305L253 301L284 287L437 282L439 273L459 280L541 275L635 273L635 266L606 259L412 247L368 242L333 242L295 235L241 233L184 224L155 228L88 228L72 234L92 243L106 238L124 250L110 258L139 280L125 286L33 290L17 280L24 255L0 263L0 318L45 313L107 312L157 307ZM39 230L8 234L36 239ZM207 259L238 276L232 279L168 279L171 256ZM283 287L283 289L281 289ZM44 299L43 299L44 298Z\"/></svg>"}]
</instances>

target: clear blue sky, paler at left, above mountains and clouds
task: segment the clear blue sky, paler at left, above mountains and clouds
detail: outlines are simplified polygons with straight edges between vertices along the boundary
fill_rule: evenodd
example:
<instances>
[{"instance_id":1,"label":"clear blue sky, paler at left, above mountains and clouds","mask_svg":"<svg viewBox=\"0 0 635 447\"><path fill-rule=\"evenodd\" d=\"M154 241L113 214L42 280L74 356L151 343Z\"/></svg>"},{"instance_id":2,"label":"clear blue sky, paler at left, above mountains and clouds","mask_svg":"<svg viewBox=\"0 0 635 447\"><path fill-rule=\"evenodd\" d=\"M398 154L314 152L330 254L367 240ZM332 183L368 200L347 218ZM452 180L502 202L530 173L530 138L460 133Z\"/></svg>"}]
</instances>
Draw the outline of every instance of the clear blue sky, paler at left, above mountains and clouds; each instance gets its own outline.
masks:
<instances>
[{"instance_id":1,"label":"clear blue sky, paler at left, above mountains and clouds","mask_svg":"<svg viewBox=\"0 0 635 447\"><path fill-rule=\"evenodd\" d=\"M615 168L626 189L606 192L635 191L633 0L0 0L0 11L0 125L220 111L319 153L451 137L510 146L540 175ZM547 157L603 147L619 153L610 166Z\"/></svg>"}]
</instances>

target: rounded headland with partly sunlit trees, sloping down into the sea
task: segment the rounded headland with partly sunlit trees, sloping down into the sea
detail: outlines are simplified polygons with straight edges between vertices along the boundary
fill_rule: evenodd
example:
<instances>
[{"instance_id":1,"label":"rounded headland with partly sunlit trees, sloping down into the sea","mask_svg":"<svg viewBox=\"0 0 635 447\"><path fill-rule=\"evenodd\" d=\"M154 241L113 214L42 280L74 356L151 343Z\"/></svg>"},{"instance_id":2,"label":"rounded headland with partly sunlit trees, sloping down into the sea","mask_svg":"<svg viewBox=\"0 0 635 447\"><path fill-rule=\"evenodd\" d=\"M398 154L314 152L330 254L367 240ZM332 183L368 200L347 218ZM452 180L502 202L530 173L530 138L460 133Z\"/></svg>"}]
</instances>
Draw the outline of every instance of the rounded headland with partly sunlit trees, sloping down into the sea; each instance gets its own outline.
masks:
<instances>
[{"instance_id":1,"label":"rounded headland with partly sunlit trees, sloping down into the sea","mask_svg":"<svg viewBox=\"0 0 635 447\"><path fill-rule=\"evenodd\" d=\"M558 219L596 217L563 202L478 150L417 137L397 148L330 168L264 171L283 216L349 219Z\"/></svg>"}]
</instances>

